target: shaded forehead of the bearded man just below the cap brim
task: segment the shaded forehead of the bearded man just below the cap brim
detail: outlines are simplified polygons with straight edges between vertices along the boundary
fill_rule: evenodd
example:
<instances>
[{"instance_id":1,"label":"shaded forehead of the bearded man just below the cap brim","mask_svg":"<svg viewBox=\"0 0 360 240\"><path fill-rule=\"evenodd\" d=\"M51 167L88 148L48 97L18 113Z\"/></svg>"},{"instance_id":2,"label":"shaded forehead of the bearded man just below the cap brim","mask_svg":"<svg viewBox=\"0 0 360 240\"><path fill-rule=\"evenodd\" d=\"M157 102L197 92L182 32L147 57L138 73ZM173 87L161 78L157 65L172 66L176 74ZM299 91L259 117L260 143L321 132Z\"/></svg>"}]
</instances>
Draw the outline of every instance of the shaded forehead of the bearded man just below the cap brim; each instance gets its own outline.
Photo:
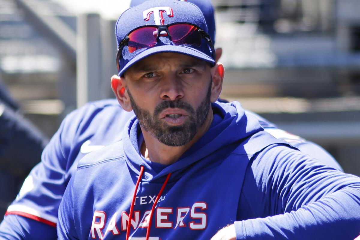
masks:
<instances>
[{"instance_id":1,"label":"shaded forehead of the bearded man just below the cap brim","mask_svg":"<svg viewBox=\"0 0 360 240\"><path fill-rule=\"evenodd\" d=\"M209 64L204 60L180 53L158 53L150 55L132 65L126 72L142 73L161 70L164 68L191 68L198 67L204 70Z\"/></svg>"}]
</instances>

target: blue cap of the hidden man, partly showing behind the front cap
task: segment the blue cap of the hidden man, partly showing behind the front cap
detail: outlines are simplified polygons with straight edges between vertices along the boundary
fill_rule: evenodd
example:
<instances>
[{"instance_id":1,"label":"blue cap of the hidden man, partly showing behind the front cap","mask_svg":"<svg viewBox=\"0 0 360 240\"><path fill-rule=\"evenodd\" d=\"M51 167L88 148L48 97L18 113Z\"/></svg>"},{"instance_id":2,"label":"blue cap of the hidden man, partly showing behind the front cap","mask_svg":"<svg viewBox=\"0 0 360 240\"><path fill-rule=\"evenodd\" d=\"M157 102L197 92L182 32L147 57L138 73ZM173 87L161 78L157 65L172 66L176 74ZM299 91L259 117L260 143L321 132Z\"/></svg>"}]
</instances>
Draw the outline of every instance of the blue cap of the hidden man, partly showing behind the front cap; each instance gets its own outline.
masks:
<instances>
[{"instance_id":1,"label":"blue cap of the hidden man, partly showing behind the front cap","mask_svg":"<svg viewBox=\"0 0 360 240\"><path fill-rule=\"evenodd\" d=\"M131 0L130 7L139 5L141 3L144 3L147 0ZM209 30L209 36L212 40L212 42L215 44L215 17L214 17L214 7L210 0L177 0L177 1L183 1L183 2L189 2L193 3L198 6L198 8L201 10L201 12L204 15L207 28Z\"/></svg>"}]
</instances>

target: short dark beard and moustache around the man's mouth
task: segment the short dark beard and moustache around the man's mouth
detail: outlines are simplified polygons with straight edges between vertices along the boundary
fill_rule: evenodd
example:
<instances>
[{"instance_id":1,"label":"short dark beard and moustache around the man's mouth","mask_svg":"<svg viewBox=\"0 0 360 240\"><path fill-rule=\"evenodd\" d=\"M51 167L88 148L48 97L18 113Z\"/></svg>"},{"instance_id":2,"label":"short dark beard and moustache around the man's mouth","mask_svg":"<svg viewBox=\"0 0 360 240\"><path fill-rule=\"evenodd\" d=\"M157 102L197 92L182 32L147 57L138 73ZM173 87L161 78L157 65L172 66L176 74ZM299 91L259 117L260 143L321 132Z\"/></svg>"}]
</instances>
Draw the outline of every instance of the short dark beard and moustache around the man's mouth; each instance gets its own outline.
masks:
<instances>
[{"instance_id":1,"label":"short dark beard and moustache around the man's mouth","mask_svg":"<svg viewBox=\"0 0 360 240\"><path fill-rule=\"evenodd\" d=\"M140 126L153 137L155 137L161 143L167 146L183 146L193 139L199 128L203 126L210 109L210 95L211 95L210 81L207 94L201 101L196 110L184 101L162 101L155 107L154 113L150 114L148 110L140 108L132 98L129 88L126 87L131 107L134 109L135 115L139 120ZM184 124L180 126L171 126L165 122L162 122L159 118L160 113L167 108L179 108L184 109L189 113L188 119Z\"/></svg>"}]
</instances>

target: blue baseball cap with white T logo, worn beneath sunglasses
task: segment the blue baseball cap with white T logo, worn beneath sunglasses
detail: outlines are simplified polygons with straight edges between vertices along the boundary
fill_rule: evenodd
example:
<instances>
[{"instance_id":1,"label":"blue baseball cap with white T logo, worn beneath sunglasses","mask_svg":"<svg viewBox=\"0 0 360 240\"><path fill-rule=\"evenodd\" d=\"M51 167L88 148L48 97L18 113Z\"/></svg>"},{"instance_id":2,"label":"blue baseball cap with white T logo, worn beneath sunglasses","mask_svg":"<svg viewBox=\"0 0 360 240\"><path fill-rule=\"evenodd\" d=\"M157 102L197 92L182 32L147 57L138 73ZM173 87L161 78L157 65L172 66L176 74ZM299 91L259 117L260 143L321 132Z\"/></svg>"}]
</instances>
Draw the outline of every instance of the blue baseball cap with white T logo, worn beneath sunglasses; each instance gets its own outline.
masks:
<instances>
[{"instance_id":1,"label":"blue baseball cap with white T logo, worn beneath sunglasses","mask_svg":"<svg viewBox=\"0 0 360 240\"><path fill-rule=\"evenodd\" d=\"M150 0L129 8L122 13L115 27L117 45L119 46L120 42L135 28L145 25L161 26L178 22L194 24L209 33L205 18L196 5L177 0ZM157 44L151 48L138 49L130 53L127 47L123 47L119 59L120 69L118 75L122 76L127 69L141 59L164 52L185 54L215 64L213 58L215 54L206 39L201 40L201 46L192 44L174 45L167 36L160 36Z\"/></svg>"}]
</instances>

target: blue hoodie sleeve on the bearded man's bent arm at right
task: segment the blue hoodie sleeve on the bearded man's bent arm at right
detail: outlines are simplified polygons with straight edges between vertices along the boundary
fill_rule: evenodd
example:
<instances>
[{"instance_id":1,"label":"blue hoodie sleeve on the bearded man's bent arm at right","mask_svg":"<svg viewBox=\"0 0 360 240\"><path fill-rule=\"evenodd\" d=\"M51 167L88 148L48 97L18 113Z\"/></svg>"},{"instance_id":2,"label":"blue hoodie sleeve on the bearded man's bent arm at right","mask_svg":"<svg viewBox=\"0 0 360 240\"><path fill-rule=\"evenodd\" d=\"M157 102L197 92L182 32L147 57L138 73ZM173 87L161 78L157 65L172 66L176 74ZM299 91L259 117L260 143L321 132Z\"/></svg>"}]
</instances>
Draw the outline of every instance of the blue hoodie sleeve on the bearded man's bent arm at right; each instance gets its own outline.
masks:
<instances>
[{"instance_id":1,"label":"blue hoodie sleeve on the bearded man's bent arm at right","mask_svg":"<svg viewBox=\"0 0 360 240\"><path fill-rule=\"evenodd\" d=\"M360 231L360 178L300 151L269 146L251 159L237 239L354 239Z\"/></svg>"}]
</instances>

